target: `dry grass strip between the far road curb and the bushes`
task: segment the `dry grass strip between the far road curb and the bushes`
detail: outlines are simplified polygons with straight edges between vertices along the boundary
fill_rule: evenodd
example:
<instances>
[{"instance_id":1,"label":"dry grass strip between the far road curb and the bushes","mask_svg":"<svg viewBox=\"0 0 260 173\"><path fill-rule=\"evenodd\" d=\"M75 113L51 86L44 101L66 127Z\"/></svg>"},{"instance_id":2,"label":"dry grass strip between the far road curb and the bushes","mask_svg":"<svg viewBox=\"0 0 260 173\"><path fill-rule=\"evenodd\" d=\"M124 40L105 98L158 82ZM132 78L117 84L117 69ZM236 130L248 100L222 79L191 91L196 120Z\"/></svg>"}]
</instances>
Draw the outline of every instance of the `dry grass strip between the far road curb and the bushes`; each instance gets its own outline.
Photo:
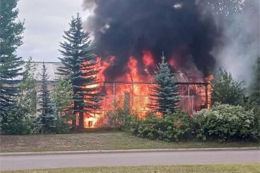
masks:
<instances>
[{"instance_id":1,"label":"dry grass strip between the far road curb and the bushes","mask_svg":"<svg viewBox=\"0 0 260 173\"><path fill-rule=\"evenodd\" d=\"M162 142L124 132L71 133L10 136L1 135L0 152L79 151L150 148L213 148L258 146L259 142Z\"/></svg>"}]
</instances>

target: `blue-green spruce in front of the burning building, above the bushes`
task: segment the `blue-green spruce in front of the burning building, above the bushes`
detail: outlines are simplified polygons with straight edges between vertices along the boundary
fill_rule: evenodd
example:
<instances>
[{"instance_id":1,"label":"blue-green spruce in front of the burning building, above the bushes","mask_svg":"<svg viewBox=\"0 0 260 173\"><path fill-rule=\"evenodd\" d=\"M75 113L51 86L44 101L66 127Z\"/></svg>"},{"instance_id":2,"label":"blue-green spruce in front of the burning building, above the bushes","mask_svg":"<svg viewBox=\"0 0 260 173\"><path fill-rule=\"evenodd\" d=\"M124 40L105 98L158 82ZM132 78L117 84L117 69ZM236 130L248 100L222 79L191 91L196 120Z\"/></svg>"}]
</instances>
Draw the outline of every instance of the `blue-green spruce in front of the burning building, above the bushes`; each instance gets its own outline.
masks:
<instances>
[{"instance_id":1,"label":"blue-green spruce in front of the burning building, above the bushes","mask_svg":"<svg viewBox=\"0 0 260 173\"><path fill-rule=\"evenodd\" d=\"M151 86L152 94L150 94L150 100L153 103L148 104L148 107L155 112L162 113L163 116L168 112L176 111L180 101L178 85L174 75L170 72L164 55L161 57L161 63L157 66L153 80L155 85Z\"/></svg>"}]
</instances>

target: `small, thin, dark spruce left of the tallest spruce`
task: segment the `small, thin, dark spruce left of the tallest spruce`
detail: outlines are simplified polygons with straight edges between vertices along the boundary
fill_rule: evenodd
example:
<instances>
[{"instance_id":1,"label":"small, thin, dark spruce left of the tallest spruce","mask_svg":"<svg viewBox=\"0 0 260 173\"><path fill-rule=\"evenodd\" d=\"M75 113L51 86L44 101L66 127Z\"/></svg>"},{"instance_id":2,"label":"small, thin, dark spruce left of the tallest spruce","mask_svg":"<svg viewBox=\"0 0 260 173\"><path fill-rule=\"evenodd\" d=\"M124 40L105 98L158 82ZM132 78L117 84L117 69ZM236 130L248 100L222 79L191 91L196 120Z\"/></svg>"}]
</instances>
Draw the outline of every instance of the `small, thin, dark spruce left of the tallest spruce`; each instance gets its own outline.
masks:
<instances>
[{"instance_id":1,"label":"small, thin, dark spruce left of the tallest spruce","mask_svg":"<svg viewBox=\"0 0 260 173\"><path fill-rule=\"evenodd\" d=\"M38 117L38 122L41 127L41 133L46 133L50 131L51 128L55 127L56 117L54 116L54 106L50 98L50 91L48 90L48 74L46 73L44 62L42 65L42 74L40 74L40 76L42 84L40 85L40 109L38 111L40 111L41 114Z\"/></svg>"}]
</instances>

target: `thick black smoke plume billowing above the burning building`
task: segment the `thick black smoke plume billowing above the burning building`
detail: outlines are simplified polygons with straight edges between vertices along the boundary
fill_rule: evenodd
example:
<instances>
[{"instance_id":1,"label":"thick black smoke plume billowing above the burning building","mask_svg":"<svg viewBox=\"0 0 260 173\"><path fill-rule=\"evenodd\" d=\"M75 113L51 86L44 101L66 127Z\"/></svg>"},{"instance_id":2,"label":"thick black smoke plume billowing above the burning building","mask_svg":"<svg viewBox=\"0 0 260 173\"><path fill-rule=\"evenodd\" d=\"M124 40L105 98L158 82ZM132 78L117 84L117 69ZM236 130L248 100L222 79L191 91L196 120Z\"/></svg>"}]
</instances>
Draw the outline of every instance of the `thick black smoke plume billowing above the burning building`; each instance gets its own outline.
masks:
<instances>
[{"instance_id":1,"label":"thick black smoke plume billowing above the burning building","mask_svg":"<svg viewBox=\"0 0 260 173\"><path fill-rule=\"evenodd\" d=\"M143 71L142 50L150 50L156 64L162 51L166 59L174 55L179 66L193 62L205 76L215 65L210 52L221 32L195 0L85 0L83 6L95 8L85 21L95 35L95 53L116 57L105 71L108 80L125 74L129 56Z\"/></svg>"}]
</instances>

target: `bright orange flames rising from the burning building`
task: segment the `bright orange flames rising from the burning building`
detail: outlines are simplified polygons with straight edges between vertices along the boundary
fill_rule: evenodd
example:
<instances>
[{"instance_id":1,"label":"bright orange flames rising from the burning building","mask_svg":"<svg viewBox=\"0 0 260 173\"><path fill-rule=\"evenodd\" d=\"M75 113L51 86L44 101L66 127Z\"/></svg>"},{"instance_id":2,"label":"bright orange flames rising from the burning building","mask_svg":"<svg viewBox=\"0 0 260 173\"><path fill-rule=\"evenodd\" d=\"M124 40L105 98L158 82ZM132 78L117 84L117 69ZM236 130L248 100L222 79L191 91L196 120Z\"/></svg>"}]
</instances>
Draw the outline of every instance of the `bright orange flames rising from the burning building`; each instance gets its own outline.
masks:
<instances>
[{"instance_id":1,"label":"bright orange flames rising from the burning building","mask_svg":"<svg viewBox=\"0 0 260 173\"><path fill-rule=\"evenodd\" d=\"M101 57L97 57L96 58L96 63L94 65L94 69L99 70L99 72L97 74L93 74L92 76L98 79L98 83L96 84L92 84L92 85L86 85L86 86L82 86L82 87L86 87L86 88L92 88L92 87L96 87L96 86L100 86L103 85L104 81L105 81L105 76L104 76L104 71L105 69L107 69L107 67L109 67L109 65L111 65L114 61L116 57L114 56L109 56L108 59L102 61ZM84 62L84 63L88 63L88 62ZM130 56L127 62L126 67L122 67L122 68L126 68L127 72L122 75L120 78L118 78L117 80L120 80L122 82L126 82L125 84L118 84L117 86L105 86L104 90L106 93L106 97L104 97L104 100L102 101L103 104L103 108L102 111L97 113L97 114L92 114L91 116L85 116L84 119L84 127L88 128L88 127L96 127L97 125L101 124L101 121L103 121L106 118L106 113L108 110L111 110L114 108L113 103L115 101L119 101L117 106L118 107L122 107L123 106L123 102L124 102L124 95L125 93L130 93L130 98L129 98L129 106L130 106L130 110L132 111L132 113L136 113L138 114L138 116L144 117L144 115L146 114L146 112L149 111L149 108L147 107L147 104L150 103L150 100L148 99L148 95L152 92L151 90L149 90L149 86L153 85L152 83L152 79L151 76L149 74L149 67L153 67L153 69L155 68L155 63L154 63L154 59L153 59L153 54L151 53L151 51L149 50L143 50L142 51L142 62L145 69L143 69L146 73L144 73L144 71L139 72L138 71L138 61L137 59L135 59L135 57ZM168 61L169 65L171 66L175 66L175 58L174 55L170 58L170 60ZM142 74L142 76L140 75ZM145 76L146 78L143 78L143 74L147 74L147 76ZM207 82L210 82L212 80L213 76L210 75L206 78ZM138 82L142 82L142 81L146 81L146 83L138 83ZM151 83L149 83L151 82ZM209 88L208 88L208 93L206 94L206 89L205 90L201 90L200 85L190 85L189 86L191 90L190 93L192 93L193 95L195 94L199 94L201 95L203 92L205 93L205 95L209 95ZM208 86L209 87L209 86ZM99 92L99 91L95 91L95 92ZM209 97L206 98L207 100L209 100ZM199 101L199 100L198 100ZM209 101L207 102L209 103ZM189 102L190 104L190 102ZM192 105L190 105L192 106ZM198 102L198 106L199 107L199 102ZM209 105L207 105L209 106Z\"/></svg>"}]
</instances>

